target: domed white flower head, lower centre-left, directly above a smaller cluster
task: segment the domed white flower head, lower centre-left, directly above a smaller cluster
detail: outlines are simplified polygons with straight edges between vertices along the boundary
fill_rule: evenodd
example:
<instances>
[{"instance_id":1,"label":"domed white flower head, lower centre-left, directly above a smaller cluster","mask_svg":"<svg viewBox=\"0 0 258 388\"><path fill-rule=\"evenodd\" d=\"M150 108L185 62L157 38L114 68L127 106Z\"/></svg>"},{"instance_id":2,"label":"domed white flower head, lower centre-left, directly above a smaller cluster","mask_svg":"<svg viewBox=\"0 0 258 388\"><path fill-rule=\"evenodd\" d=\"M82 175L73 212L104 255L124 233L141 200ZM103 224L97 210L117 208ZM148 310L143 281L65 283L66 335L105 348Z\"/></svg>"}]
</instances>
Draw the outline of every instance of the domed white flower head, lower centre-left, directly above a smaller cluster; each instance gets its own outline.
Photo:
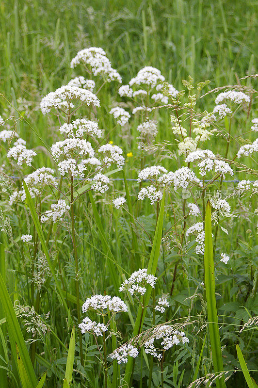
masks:
<instances>
[{"instance_id":1,"label":"domed white flower head, lower centre-left, directly above a smaller cluster","mask_svg":"<svg viewBox=\"0 0 258 388\"><path fill-rule=\"evenodd\" d=\"M82 312L86 312L90 309L96 311L103 311L108 309L113 314L118 312L127 312L127 305L120 299L118 296L110 295L93 295L90 298L86 299L82 305Z\"/></svg>"}]
</instances>

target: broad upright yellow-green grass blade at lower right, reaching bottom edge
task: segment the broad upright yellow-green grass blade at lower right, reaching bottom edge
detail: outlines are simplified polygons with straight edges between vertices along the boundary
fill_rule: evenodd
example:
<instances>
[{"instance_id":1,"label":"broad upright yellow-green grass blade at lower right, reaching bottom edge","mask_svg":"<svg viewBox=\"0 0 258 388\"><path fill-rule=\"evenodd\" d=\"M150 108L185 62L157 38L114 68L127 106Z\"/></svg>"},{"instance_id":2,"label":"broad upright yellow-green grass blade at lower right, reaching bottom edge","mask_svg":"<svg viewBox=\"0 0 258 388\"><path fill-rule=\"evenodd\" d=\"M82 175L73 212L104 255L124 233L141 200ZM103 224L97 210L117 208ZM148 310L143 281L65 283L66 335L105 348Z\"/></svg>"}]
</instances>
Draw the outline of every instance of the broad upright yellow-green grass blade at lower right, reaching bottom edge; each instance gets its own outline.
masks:
<instances>
[{"instance_id":1,"label":"broad upright yellow-green grass blade at lower right, reaching bottom edge","mask_svg":"<svg viewBox=\"0 0 258 388\"><path fill-rule=\"evenodd\" d=\"M210 331L210 345L212 353L212 361L215 373L223 371L223 361L220 345L220 333L218 324L218 314L215 296L215 276L214 276L214 261L213 261L213 246L211 235L211 210L210 201L207 202L205 214L205 249L204 249L204 272L205 272L205 289L208 310L208 321ZM217 388L225 388L223 382L224 376L216 379Z\"/></svg>"}]
</instances>

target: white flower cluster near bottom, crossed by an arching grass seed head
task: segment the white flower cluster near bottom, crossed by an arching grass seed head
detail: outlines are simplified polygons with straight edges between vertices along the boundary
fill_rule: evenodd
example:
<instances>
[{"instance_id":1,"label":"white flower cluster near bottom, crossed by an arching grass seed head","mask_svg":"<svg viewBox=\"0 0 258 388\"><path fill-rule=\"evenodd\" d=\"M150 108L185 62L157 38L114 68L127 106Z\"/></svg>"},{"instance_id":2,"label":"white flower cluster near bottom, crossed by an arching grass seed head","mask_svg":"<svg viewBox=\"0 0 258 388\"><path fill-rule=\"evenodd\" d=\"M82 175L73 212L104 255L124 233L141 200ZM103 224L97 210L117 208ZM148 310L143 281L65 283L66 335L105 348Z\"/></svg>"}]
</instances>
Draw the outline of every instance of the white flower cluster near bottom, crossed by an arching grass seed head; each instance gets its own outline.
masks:
<instances>
[{"instance_id":1,"label":"white flower cluster near bottom, crossed by an arching grass seed head","mask_svg":"<svg viewBox=\"0 0 258 388\"><path fill-rule=\"evenodd\" d=\"M144 348L146 354L150 354L158 358L158 360L161 360L162 353L158 353L158 349L154 346L155 340L162 340L161 346L163 350L169 350L172 346L178 345L180 342L183 344L189 342L189 339L183 331L173 330L171 326L166 324L155 327L151 333L151 338L145 342Z\"/></svg>"}]
</instances>

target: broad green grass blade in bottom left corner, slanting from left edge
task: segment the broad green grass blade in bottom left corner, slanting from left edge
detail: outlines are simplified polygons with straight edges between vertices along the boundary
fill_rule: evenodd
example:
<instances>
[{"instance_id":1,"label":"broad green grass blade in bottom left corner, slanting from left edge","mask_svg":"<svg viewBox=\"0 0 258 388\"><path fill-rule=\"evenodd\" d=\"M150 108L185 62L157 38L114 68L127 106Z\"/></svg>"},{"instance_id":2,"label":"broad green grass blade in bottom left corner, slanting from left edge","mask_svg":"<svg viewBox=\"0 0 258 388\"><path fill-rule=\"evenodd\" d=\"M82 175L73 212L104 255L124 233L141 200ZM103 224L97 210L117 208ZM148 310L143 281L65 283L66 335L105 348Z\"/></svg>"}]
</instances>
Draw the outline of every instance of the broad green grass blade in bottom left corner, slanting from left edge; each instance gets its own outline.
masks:
<instances>
[{"instance_id":1,"label":"broad green grass blade in bottom left corner, slanting from left edge","mask_svg":"<svg viewBox=\"0 0 258 388\"><path fill-rule=\"evenodd\" d=\"M28 375L28 378L32 383L32 387L36 387L37 378L33 370L32 361L30 359L30 356L21 332L20 325L16 317L15 309L13 307L11 298L9 296L9 293L7 291L7 288L5 286L5 283L1 274L0 274L0 300L5 312L10 339L16 342L19 348L19 355L22 358L23 365ZM18 366L17 360L16 360L16 365Z\"/></svg>"}]
</instances>

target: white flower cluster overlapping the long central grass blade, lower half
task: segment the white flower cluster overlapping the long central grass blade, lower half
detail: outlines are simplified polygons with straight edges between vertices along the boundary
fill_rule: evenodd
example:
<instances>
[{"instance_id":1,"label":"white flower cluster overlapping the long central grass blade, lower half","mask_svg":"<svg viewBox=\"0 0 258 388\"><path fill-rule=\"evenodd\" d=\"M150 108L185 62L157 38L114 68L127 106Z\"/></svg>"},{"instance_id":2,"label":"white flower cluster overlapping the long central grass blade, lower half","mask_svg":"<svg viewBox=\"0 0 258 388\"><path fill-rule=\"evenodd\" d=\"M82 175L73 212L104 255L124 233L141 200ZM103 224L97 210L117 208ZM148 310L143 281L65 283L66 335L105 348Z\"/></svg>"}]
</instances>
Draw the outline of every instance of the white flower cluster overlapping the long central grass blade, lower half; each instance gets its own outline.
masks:
<instances>
[{"instance_id":1,"label":"white flower cluster overlapping the long central grass blade, lower half","mask_svg":"<svg viewBox=\"0 0 258 388\"><path fill-rule=\"evenodd\" d=\"M147 291L146 286L149 284L152 288L155 288L157 277L151 274L147 274L147 269L140 269L131 274L129 279L125 280L119 292L128 290L131 295L139 292L140 295L144 295Z\"/></svg>"}]
</instances>

